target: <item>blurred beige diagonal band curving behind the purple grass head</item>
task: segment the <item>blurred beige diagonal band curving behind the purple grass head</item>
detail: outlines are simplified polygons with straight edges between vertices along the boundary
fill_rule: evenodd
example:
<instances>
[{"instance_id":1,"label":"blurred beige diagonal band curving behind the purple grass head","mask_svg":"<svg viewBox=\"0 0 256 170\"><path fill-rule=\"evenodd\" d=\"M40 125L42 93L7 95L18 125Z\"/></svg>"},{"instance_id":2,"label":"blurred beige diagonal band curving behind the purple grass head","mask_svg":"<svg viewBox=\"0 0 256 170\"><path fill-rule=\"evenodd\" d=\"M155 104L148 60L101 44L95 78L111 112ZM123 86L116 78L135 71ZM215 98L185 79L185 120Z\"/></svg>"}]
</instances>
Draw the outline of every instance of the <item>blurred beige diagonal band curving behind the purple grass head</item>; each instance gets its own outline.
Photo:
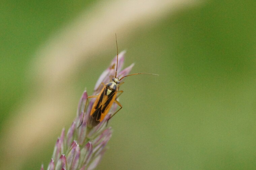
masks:
<instances>
[{"instance_id":1,"label":"blurred beige diagonal band curving behind the purple grass head","mask_svg":"<svg viewBox=\"0 0 256 170\"><path fill-rule=\"evenodd\" d=\"M115 33L125 41L135 28L151 27L161 18L195 4L198 5L198 1L103 1L87 8L52 35L28 66L32 69L33 75L28 76L33 77L35 90L9 113L11 119L5 123L1 139L5 163L0 169L20 169L26 160L43 152L42 144L49 138L57 139L55 134L61 132L65 122L71 124L70 116L75 117L76 111L68 104L75 89L67 86L67 81L75 74L77 65L86 63L92 54L101 54L102 48L115 47ZM44 167L47 164L44 162Z\"/></svg>"}]
</instances>

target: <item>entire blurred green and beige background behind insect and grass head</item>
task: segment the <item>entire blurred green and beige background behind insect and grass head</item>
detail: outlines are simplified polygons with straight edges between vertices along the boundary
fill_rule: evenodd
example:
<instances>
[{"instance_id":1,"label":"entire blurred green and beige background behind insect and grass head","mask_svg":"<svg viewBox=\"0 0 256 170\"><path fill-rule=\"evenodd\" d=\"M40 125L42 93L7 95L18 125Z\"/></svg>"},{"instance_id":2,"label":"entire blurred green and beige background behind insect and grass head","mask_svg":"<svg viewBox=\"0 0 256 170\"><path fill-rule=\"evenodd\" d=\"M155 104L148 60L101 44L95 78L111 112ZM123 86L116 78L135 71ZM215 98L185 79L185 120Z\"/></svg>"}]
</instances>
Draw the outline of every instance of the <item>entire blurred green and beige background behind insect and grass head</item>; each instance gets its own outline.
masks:
<instances>
[{"instance_id":1,"label":"entire blurred green and beige background behind insect and grass head","mask_svg":"<svg viewBox=\"0 0 256 170\"><path fill-rule=\"evenodd\" d=\"M2 1L0 169L47 167L85 87L132 73L97 169L255 169L256 3Z\"/></svg>"}]
</instances>

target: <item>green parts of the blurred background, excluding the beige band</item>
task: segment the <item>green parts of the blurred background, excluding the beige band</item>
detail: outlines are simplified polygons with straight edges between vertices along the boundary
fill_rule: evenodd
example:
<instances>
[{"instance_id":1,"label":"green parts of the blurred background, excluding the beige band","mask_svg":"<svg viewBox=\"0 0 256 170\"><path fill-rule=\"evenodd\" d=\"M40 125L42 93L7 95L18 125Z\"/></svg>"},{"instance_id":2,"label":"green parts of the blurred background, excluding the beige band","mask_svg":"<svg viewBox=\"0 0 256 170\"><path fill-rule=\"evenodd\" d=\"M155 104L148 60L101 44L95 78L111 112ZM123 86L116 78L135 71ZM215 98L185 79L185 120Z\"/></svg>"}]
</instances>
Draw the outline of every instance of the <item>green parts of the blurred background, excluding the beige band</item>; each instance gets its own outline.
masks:
<instances>
[{"instance_id":1,"label":"green parts of the blurred background, excluding the beige band","mask_svg":"<svg viewBox=\"0 0 256 170\"><path fill-rule=\"evenodd\" d=\"M20 114L16 109L33 97L38 86L29 67L36 51L97 3L101 1L1 3L0 163L4 168L23 157L6 158L6 148L12 146L3 138L12 128L8 121ZM204 1L167 12L152 23L142 22L128 35L110 31L112 48L97 47L102 52L92 53L67 80L75 89L70 103L63 104L70 105L70 121L40 139L41 149L37 151L36 145L28 149L30 154L18 169L39 169L42 162L47 167L61 128L67 129L75 117L84 88L92 93L98 76L115 56L115 32L119 50L127 50L125 66L135 62L132 73L160 76L125 80L120 98L124 108L110 122L114 133L98 169L255 169L255 21L254 0Z\"/></svg>"}]
</instances>

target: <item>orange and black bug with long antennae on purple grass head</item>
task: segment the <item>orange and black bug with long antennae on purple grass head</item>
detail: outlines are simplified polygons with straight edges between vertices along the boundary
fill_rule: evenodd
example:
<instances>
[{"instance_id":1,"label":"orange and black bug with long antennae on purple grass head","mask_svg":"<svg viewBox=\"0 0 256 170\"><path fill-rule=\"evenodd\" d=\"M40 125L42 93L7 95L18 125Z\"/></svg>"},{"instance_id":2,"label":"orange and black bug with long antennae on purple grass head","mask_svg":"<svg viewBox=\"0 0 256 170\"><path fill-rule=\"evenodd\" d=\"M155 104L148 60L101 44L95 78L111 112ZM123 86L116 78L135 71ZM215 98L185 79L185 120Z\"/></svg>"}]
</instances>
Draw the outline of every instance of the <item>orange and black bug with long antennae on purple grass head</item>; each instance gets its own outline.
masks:
<instances>
[{"instance_id":1,"label":"orange and black bug with long antennae on purple grass head","mask_svg":"<svg viewBox=\"0 0 256 170\"><path fill-rule=\"evenodd\" d=\"M117 35L116 35L116 44L117 44ZM118 46L117 46L117 66L118 66ZM121 78L118 78L117 66L116 66L115 77L112 78L112 81L110 80L110 82L106 84L103 83L104 87L101 89L98 95L87 97L83 119L79 126L81 126L83 123L89 98L96 98L89 116L89 126L94 127L94 126L97 126L104 119L104 117L109 112L113 103L116 103L118 106L120 106L120 108L113 115L111 115L109 119L111 119L117 112L119 112L123 108L122 104L118 102L116 99L124 92L122 90L118 91L118 87L124 83L124 82L120 83L120 81L124 77L136 75L136 74L152 74L152 73L134 73L134 74L130 74L130 75L126 75ZM158 75L158 74L152 74L152 75Z\"/></svg>"}]
</instances>

